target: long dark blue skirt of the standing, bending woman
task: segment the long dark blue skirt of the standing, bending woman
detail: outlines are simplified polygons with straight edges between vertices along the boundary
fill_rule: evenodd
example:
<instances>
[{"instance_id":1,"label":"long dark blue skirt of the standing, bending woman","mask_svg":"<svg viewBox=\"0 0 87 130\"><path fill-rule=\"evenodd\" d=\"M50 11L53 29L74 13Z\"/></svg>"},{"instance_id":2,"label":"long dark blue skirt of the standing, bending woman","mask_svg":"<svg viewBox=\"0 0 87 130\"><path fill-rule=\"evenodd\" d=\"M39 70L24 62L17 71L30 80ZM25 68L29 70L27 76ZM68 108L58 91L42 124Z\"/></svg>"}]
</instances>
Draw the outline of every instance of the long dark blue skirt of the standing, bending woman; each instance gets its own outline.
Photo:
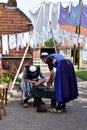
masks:
<instances>
[{"instance_id":1,"label":"long dark blue skirt of the standing, bending woman","mask_svg":"<svg viewBox=\"0 0 87 130\"><path fill-rule=\"evenodd\" d=\"M69 60L56 63L55 95L57 102L69 102L78 96L78 86L73 64Z\"/></svg>"}]
</instances>

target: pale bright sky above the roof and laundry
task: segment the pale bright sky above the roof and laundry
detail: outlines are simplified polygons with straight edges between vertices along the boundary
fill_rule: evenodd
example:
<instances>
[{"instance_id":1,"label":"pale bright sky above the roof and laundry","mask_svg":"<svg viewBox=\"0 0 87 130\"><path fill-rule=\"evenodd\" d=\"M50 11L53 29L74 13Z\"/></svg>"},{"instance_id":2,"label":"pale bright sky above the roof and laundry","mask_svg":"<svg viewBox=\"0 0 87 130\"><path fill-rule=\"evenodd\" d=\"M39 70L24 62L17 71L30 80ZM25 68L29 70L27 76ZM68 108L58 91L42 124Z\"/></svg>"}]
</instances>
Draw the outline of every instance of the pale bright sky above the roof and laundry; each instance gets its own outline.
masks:
<instances>
[{"instance_id":1,"label":"pale bright sky above the roof and laundry","mask_svg":"<svg viewBox=\"0 0 87 130\"><path fill-rule=\"evenodd\" d=\"M0 2L7 3L8 0L0 0ZM40 6L42 2L64 2L63 4L67 4L67 2L79 2L79 0L16 0L17 7L20 8L25 14L29 12L29 10L33 10L36 7ZM87 0L84 0L87 1Z\"/></svg>"}]
</instances>

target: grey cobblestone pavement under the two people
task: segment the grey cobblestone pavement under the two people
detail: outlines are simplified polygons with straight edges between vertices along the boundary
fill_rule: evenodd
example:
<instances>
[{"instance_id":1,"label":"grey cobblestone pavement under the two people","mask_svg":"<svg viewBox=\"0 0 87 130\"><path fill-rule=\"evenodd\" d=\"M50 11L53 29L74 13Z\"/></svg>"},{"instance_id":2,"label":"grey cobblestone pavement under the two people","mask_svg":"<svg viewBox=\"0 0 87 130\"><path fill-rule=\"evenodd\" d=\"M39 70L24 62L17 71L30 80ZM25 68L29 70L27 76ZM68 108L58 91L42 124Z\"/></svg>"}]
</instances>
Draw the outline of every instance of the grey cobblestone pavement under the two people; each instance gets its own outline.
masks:
<instances>
[{"instance_id":1,"label":"grey cobblestone pavement under the two people","mask_svg":"<svg viewBox=\"0 0 87 130\"><path fill-rule=\"evenodd\" d=\"M21 104L21 92L13 90L6 106L7 116L0 120L0 130L87 130L87 82L78 81L79 96L67 103L65 113L37 113L33 100L28 108ZM46 107L50 100L43 99Z\"/></svg>"}]
</instances>

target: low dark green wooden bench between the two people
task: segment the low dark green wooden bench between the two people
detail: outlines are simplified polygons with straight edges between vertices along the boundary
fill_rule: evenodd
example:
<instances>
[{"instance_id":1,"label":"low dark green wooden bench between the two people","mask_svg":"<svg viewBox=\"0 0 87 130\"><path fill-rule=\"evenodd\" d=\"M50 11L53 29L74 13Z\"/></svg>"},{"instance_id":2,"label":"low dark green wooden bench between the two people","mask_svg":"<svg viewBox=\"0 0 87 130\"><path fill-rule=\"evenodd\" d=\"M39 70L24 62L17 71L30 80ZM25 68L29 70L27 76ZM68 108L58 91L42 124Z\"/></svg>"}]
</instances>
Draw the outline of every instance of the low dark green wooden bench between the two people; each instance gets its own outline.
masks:
<instances>
[{"instance_id":1,"label":"low dark green wooden bench between the two people","mask_svg":"<svg viewBox=\"0 0 87 130\"><path fill-rule=\"evenodd\" d=\"M36 104L36 97L49 98L51 99L51 108L56 106L54 88L48 88L44 85L39 88L34 87L32 90L32 95L34 97L34 106Z\"/></svg>"}]
</instances>

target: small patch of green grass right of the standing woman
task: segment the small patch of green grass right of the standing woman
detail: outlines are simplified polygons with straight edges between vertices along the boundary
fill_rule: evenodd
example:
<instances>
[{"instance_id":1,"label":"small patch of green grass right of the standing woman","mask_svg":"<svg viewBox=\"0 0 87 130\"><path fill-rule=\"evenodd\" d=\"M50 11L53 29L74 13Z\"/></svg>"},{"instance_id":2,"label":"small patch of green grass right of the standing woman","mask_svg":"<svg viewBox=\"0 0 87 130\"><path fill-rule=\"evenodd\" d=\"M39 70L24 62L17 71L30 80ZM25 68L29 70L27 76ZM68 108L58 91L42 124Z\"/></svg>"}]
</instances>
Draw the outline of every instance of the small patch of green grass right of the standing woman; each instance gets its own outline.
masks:
<instances>
[{"instance_id":1,"label":"small patch of green grass right of the standing woman","mask_svg":"<svg viewBox=\"0 0 87 130\"><path fill-rule=\"evenodd\" d=\"M76 70L75 73L77 77L83 81L87 81L87 70Z\"/></svg>"}]
</instances>

